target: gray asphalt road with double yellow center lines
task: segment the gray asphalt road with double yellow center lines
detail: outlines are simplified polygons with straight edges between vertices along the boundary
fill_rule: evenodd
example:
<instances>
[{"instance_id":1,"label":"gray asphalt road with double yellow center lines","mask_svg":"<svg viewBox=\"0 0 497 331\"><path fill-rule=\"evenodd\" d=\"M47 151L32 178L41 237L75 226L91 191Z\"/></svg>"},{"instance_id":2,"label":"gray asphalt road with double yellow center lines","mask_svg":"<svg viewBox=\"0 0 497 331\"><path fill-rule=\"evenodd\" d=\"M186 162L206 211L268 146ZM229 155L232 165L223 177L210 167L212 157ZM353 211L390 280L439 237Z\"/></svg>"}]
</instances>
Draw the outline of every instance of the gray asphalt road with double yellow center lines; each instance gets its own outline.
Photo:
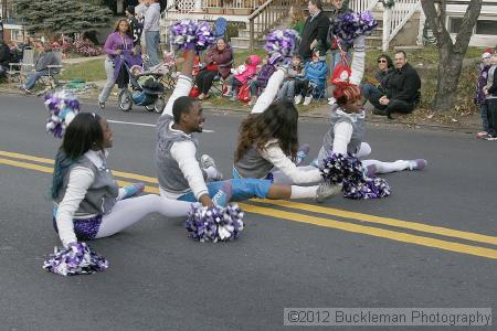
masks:
<instances>
[{"instance_id":1,"label":"gray asphalt road with double yellow center lines","mask_svg":"<svg viewBox=\"0 0 497 331\"><path fill-rule=\"evenodd\" d=\"M110 260L108 270L63 278L41 268L57 244L51 174L43 172L51 166L27 157L55 154L60 141L44 134L45 115L40 98L0 96L1 330L281 330L285 307L497 308L493 142L370 128L373 158L430 162L422 172L384 175L393 188L388 199L250 202L246 229L228 244L195 243L182 220L155 214L92 243ZM104 115L135 124L157 119L141 109L108 107ZM208 113L205 128L213 132L202 134L201 150L224 173L241 119ZM113 128L109 164L125 172L120 179L155 177L155 128ZM313 157L326 129L324 120L302 120L300 140L313 146Z\"/></svg>"}]
</instances>

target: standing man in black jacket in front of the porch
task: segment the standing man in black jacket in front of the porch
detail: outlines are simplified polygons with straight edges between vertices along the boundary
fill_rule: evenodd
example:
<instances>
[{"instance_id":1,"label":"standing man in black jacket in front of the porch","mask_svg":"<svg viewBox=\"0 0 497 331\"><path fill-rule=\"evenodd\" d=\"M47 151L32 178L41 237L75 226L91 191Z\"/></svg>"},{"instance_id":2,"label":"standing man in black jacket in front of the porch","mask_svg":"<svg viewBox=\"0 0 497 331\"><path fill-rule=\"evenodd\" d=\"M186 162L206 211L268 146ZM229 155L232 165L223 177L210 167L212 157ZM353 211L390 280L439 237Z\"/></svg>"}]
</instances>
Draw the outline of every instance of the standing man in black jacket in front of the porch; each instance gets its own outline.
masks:
<instances>
[{"instance_id":1,"label":"standing man in black jacket in front of the porch","mask_svg":"<svg viewBox=\"0 0 497 331\"><path fill-rule=\"evenodd\" d=\"M304 24L300 45L298 46L298 53L304 64L313 61L313 51L316 47L319 47L320 54L326 54L326 40L329 29L329 19L322 11L321 0L309 0L307 8L309 17Z\"/></svg>"}]
</instances>

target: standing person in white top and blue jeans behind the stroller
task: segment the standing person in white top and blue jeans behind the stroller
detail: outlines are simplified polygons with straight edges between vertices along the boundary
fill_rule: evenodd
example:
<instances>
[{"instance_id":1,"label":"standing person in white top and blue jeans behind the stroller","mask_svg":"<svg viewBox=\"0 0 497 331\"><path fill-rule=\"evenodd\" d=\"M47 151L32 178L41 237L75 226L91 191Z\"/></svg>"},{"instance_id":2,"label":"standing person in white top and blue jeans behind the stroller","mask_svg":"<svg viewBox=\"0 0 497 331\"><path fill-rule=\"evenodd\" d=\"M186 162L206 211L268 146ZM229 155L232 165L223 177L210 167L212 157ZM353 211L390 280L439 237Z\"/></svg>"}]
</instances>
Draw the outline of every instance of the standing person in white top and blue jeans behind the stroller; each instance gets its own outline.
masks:
<instances>
[{"instance_id":1,"label":"standing person in white top and blue jeans behind the stroller","mask_svg":"<svg viewBox=\"0 0 497 331\"><path fill-rule=\"evenodd\" d=\"M157 0L147 0L149 4L145 12L144 32L146 40L147 55L150 58L150 66L159 64L159 22L160 4Z\"/></svg>"}]
</instances>

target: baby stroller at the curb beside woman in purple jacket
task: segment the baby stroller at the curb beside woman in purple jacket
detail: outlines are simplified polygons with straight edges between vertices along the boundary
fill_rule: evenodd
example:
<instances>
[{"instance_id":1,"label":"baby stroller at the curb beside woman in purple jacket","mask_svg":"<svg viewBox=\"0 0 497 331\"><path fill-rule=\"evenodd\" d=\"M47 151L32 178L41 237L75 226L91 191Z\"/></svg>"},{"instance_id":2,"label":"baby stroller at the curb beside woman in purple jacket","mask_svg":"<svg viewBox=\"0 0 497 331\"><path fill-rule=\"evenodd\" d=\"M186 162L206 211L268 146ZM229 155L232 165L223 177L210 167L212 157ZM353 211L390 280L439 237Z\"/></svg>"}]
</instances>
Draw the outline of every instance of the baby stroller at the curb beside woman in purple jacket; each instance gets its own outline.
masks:
<instances>
[{"instance_id":1,"label":"baby stroller at the curb beside woman in purple jacket","mask_svg":"<svg viewBox=\"0 0 497 331\"><path fill-rule=\"evenodd\" d=\"M163 99L165 87L161 83L161 73L141 73L134 75L127 63L124 63L129 75L129 84L133 92L123 88L117 99L119 109L131 110L133 105L144 106L148 111L162 113L166 102Z\"/></svg>"}]
</instances>

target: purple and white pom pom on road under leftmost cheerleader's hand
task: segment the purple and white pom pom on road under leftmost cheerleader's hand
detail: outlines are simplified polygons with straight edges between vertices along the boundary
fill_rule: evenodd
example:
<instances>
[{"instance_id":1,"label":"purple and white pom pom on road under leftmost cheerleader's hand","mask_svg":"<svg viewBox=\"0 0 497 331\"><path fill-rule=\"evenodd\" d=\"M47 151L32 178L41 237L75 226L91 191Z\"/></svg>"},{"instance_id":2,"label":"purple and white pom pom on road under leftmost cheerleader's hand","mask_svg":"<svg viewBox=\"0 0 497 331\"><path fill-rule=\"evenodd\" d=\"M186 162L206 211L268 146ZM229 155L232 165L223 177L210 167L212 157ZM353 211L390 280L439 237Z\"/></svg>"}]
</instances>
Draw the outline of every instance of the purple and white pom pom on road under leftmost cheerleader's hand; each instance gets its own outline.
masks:
<instances>
[{"instance_id":1,"label":"purple and white pom pom on road under leftmost cheerleader's hand","mask_svg":"<svg viewBox=\"0 0 497 331\"><path fill-rule=\"evenodd\" d=\"M71 243L49 255L43 269L62 276L88 275L108 268L105 257L92 252L85 243Z\"/></svg>"}]
</instances>

